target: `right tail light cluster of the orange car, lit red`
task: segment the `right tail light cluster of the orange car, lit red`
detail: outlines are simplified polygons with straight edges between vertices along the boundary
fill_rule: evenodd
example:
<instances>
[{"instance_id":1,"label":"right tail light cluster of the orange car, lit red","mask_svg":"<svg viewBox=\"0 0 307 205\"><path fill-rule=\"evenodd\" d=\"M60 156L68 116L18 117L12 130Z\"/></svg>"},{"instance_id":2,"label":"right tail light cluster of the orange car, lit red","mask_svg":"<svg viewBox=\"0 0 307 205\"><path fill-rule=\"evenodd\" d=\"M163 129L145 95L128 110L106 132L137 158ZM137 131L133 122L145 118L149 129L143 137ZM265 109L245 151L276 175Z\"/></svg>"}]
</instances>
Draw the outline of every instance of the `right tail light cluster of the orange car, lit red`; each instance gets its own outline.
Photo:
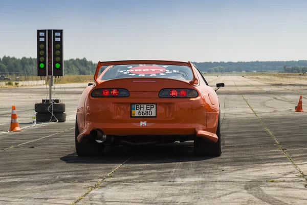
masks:
<instances>
[{"instance_id":1,"label":"right tail light cluster of the orange car, lit red","mask_svg":"<svg viewBox=\"0 0 307 205\"><path fill-rule=\"evenodd\" d=\"M158 96L171 98L192 98L197 97L198 92L193 89L168 88L160 90Z\"/></svg>"}]
</instances>

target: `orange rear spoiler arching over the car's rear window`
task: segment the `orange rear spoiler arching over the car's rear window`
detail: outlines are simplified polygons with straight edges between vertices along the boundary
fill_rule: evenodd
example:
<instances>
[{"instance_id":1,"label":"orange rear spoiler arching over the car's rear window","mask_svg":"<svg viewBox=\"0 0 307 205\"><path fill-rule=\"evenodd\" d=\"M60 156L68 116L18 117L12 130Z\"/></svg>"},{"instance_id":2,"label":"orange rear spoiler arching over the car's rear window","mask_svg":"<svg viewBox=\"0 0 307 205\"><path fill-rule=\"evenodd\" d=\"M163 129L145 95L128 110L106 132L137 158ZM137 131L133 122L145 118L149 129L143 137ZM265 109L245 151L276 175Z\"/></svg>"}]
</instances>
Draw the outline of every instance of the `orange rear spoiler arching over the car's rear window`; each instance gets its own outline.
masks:
<instances>
[{"instance_id":1,"label":"orange rear spoiler arching over the car's rear window","mask_svg":"<svg viewBox=\"0 0 307 205\"><path fill-rule=\"evenodd\" d=\"M192 63L190 61L183 62L183 61L171 61L171 60L118 60L118 61L98 62L94 74L94 80L96 82L96 85L101 82L101 80L98 79L99 77L98 74L102 66L116 66L116 65L126 65L126 64L164 64L164 65L188 66L192 69L193 72L193 79L189 83L192 85L198 84L198 80L195 77L196 75L194 73Z\"/></svg>"}]
</instances>

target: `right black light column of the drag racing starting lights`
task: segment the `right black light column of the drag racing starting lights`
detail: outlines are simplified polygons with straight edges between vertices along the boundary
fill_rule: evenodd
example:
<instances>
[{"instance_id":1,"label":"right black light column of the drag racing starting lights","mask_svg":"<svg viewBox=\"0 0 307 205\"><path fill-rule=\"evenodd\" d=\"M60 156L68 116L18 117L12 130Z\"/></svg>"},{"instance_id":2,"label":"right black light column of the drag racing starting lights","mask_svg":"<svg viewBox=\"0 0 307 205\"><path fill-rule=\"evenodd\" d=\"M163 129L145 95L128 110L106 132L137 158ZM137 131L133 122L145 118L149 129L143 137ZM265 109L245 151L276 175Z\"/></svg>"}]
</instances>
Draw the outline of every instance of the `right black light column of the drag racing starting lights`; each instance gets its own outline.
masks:
<instances>
[{"instance_id":1,"label":"right black light column of the drag racing starting lights","mask_svg":"<svg viewBox=\"0 0 307 205\"><path fill-rule=\"evenodd\" d=\"M63 30L53 31L53 76L63 76Z\"/></svg>"}]
</instances>

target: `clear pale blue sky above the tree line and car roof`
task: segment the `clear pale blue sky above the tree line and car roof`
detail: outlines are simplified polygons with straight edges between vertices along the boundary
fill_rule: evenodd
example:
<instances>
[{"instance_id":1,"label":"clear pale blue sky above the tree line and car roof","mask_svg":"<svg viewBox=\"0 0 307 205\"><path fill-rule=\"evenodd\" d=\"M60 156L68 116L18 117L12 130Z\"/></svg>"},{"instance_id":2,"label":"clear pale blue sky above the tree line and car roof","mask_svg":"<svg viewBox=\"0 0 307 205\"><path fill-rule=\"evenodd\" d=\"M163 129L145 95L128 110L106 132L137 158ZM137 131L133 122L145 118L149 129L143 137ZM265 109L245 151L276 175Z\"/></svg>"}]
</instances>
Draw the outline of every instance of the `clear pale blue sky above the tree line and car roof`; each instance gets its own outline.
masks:
<instances>
[{"instance_id":1,"label":"clear pale blue sky above the tree line and car roof","mask_svg":"<svg viewBox=\"0 0 307 205\"><path fill-rule=\"evenodd\" d=\"M0 57L36 57L64 30L64 58L307 59L307 1L0 0Z\"/></svg>"}]
</instances>

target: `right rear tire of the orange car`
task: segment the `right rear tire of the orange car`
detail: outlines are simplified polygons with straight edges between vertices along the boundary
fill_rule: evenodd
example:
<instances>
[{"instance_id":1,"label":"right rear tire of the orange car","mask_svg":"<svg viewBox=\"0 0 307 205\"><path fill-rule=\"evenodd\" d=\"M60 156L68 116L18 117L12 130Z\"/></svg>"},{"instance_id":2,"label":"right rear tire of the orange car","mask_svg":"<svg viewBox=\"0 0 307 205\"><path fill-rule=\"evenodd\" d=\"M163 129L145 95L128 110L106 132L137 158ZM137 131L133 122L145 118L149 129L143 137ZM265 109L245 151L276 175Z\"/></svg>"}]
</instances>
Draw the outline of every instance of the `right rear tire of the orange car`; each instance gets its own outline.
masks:
<instances>
[{"instance_id":1,"label":"right rear tire of the orange car","mask_svg":"<svg viewBox=\"0 0 307 205\"><path fill-rule=\"evenodd\" d=\"M218 137L217 142L208 142L201 137L195 137L194 139L194 154L198 156L221 156L221 111L218 115L218 124L216 129L216 135Z\"/></svg>"}]
</instances>

